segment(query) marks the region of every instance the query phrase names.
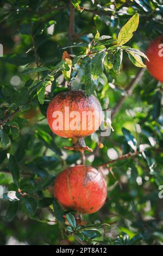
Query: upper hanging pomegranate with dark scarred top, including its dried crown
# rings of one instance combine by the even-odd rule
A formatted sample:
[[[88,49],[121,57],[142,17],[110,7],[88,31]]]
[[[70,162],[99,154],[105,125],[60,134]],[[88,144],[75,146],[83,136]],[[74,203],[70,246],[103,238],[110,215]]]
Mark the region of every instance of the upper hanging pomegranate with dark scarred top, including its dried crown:
[[[69,90],[59,93],[49,103],[47,121],[56,135],[72,138],[73,145],[68,149],[92,151],[86,147],[84,137],[98,129],[102,107],[95,96],[86,96],[83,90]]]

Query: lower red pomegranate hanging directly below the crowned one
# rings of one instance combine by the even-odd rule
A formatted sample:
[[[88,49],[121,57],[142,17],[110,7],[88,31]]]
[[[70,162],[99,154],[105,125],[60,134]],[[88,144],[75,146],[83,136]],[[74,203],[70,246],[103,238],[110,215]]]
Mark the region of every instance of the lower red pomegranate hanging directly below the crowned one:
[[[54,184],[54,196],[68,209],[92,214],[102,208],[106,200],[106,182],[91,166],[69,167],[61,172]]]

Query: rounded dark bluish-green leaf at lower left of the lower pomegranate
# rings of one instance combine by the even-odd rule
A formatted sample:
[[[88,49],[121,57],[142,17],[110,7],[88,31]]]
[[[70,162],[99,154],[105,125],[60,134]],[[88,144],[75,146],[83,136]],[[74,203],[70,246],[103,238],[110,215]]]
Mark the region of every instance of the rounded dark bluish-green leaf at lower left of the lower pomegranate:
[[[22,211],[27,215],[34,215],[37,210],[37,202],[33,197],[23,197],[21,199]]]

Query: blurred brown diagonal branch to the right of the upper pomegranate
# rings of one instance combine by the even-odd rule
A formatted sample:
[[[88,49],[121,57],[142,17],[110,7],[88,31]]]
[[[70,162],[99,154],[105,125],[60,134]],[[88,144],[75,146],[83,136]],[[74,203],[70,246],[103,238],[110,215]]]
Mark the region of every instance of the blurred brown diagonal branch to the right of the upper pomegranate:
[[[145,69],[140,69],[140,70],[137,72],[137,74],[136,74],[134,80],[132,80],[132,81],[130,82],[130,84],[128,85],[128,87],[126,88],[126,94],[121,97],[120,101],[117,103],[117,106],[116,106],[116,107],[114,108],[114,110],[112,111],[111,119],[114,118],[115,114],[116,114],[116,113],[118,112],[118,110],[121,108],[121,106],[122,106],[124,100],[126,100],[126,98],[131,95],[131,93],[133,92],[133,90],[134,90],[136,84],[141,80],[141,78],[142,78],[144,72],[145,72]]]

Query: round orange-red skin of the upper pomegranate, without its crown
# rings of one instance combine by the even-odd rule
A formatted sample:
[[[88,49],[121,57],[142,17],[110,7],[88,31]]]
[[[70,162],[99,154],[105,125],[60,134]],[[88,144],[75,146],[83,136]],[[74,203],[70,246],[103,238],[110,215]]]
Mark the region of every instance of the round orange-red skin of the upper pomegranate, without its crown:
[[[65,114],[65,107],[68,107],[68,112],[72,113],[74,111],[78,112],[79,117],[75,117],[74,128],[71,129],[70,125],[74,117],[68,117]],[[58,117],[53,117],[53,113],[59,111],[63,115],[63,127],[58,129],[55,120]],[[91,118],[86,117],[82,119],[83,111],[89,111],[90,113],[96,112],[95,116],[92,116],[92,126]],[[49,103],[47,109],[47,121],[51,130],[60,137],[65,138],[80,138],[91,135],[95,132],[99,125],[101,124],[100,114],[102,114],[102,107],[97,98],[93,95],[86,96],[83,90],[70,90],[69,92],[62,92],[55,96]],[[85,129],[82,129],[83,123]],[[68,127],[65,127],[65,124]],[[91,128],[91,129],[90,129]]]

